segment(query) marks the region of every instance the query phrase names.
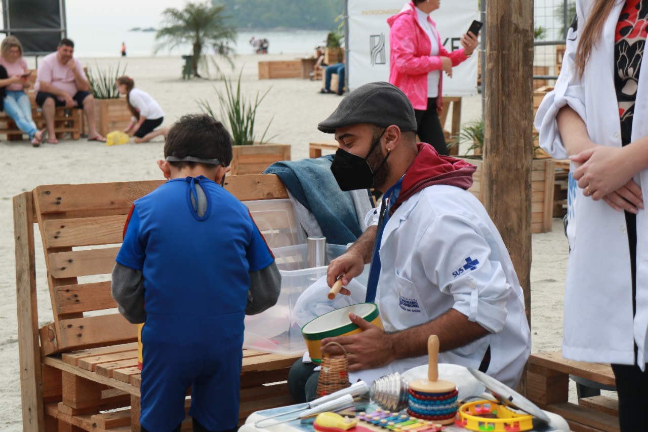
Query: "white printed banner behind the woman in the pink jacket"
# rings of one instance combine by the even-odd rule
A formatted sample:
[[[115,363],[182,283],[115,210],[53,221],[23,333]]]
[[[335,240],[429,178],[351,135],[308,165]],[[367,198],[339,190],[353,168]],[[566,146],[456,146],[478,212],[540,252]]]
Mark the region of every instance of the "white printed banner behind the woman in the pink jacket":
[[[350,90],[367,82],[389,80],[389,25],[387,19],[402,10],[403,0],[347,0],[349,40],[347,69]],[[478,0],[445,1],[430,18],[437,24],[441,43],[448,51],[461,48],[459,39],[473,19],[480,19]],[[478,49],[480,49],[478,47]],[[452,69],[452,78],[444,74],[443,94],[477,94],[477,58],[475,54]]]

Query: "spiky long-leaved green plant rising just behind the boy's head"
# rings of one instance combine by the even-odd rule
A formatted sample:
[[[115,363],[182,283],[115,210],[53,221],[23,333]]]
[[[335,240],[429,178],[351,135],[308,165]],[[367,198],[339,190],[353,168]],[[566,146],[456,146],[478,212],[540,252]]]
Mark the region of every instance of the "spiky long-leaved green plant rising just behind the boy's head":
[[[225,82],[225,93],[219,91],[214,87],[216,94],[218,95],[218,101],[220,102],[220,114],[222,119],[227,119],[229,122],[229,130],[232,134],[233,145],[252,145],[255,141],[255,132],[254,126],[257,119],[257,108],[259,108],[260,103],[263,101],[264,97],[270,91],[270,88],[266,90],[265,93],[259,96],[257,95],[252,102],[251,99],[244,97],[241,93],[241,75],[243,71],[238,74],[237,86],[234,88],[234,85],[231,80],[223,78]],[[209,114],[214,119],[218,119],[219,116],[214,114],[213,108],[206,99],[200,99],[198,101],[198,106],[205,113]],[[273,116],[274,118],[274,116]],[[226,123],[225,121],[223,123]],[[268,122],[268,126],[263,131],[259,143],[267,143],[264,141],[266,132],[272,123],[272,119]],[[274,138],[271,137],[268,140]]]

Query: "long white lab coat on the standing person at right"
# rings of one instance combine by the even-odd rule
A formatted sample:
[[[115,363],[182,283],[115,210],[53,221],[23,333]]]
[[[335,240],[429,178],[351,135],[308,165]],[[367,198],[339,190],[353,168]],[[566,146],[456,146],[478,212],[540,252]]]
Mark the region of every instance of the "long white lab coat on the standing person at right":
[[[570,29],[561,74],[535,118],[540,146],[554,158],[568,155],[555,117],[565,105],[577,112],[595,143],[621,147],[618,101],[614,89],[614,31],[621,8],[617,0],[605,23],[603,39],[592,50],[583,80],[574,71],[579,30],[583,29],[591,1],[577,0],[578,30]],[[643,56],[645,60],[646,56]],[[587,83],[587,84],[585,84]],[[648,134],[648,60],[642,62],[639,77],[632,141]],[[573,164],[570,171],[573,172]],[[634,176],[643,191],[648,190],[648,172]],[[568,187],[568,241],[570,257],[564,301],[562,355],[568,359],[601,363],[638,364],[646,357],[648,328],[648,230],[646,212],[637,215],[636,317],[632,318],[632,281],[627,228],[623,212],[603,200],[583,195],[570,173]],[[645,195],[645,193],[644,193]]]

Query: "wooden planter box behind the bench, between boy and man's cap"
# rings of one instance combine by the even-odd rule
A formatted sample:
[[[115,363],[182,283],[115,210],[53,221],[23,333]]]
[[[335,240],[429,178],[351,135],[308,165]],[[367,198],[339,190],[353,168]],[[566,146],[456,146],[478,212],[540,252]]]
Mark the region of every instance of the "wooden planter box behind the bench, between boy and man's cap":
[[[290,144],[235,145],[232,156],[229,174],[261,174],[275,162],[290,160]]]

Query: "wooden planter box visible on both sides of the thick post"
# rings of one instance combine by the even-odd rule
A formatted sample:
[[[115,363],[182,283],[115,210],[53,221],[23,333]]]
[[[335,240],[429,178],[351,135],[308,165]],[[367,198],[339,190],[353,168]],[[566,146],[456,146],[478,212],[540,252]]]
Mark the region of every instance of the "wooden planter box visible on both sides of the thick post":
[[[463,158],[477,171],[472,174],[472,186],[468,189],[472,195],[484,202],[485,187],[481,182],[483,176],[483,160]],[[531,232],[550,232],[553,223],[553,159],[534,159],[531,165]]]

